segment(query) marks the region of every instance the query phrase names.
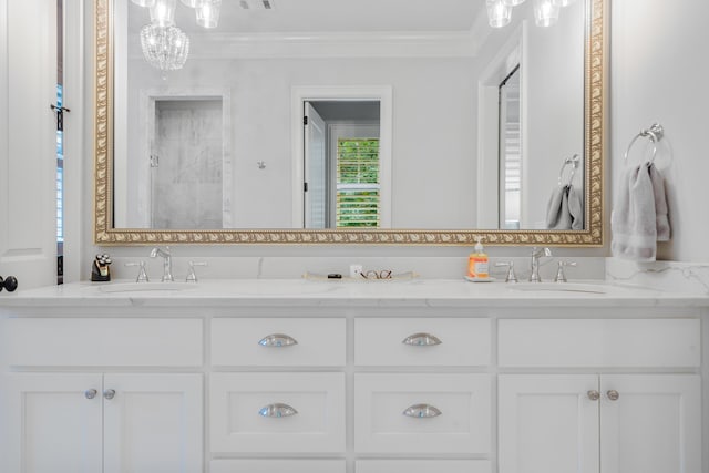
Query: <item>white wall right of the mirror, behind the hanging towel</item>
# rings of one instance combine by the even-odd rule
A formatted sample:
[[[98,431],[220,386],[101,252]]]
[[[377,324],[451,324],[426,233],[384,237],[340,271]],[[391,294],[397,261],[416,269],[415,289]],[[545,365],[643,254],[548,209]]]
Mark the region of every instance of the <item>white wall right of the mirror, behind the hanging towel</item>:
[[[623,154],[640,128],[665,126],[656,161],[664,172],[671,240],[658,259],[709,260],[709,2],[618,0],[612,10],[612,146],[614,189]],[[634,147],[637,163],[641,146]]]

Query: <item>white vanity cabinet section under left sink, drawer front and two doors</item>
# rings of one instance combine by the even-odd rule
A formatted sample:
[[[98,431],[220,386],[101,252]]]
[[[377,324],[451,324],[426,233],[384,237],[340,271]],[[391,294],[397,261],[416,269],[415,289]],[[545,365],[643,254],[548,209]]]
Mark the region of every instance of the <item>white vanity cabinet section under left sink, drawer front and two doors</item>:
[[[3,320],[2,471],[198,473],[202,320]],[[179,366],[181,371],[175,371]]]

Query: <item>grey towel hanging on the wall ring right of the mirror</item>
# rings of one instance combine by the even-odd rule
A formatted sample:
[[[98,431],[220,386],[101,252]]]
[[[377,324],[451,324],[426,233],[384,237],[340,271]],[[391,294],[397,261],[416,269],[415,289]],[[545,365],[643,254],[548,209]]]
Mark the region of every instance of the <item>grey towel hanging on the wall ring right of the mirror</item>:
[[[669,239],[665,181],[651,163],[623,176],[610,217],[613,255],[635,261],[655,261],[657,241]]]

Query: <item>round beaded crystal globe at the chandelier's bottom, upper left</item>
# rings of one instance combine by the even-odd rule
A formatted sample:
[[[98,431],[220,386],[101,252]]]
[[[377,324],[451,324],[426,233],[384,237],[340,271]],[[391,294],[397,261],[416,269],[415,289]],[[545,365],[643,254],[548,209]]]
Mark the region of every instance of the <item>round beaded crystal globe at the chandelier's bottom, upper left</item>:
[[[189,53],[189,38],[177,27],[147,24],[141,30],[143,56],[163,72],[182,69]]]

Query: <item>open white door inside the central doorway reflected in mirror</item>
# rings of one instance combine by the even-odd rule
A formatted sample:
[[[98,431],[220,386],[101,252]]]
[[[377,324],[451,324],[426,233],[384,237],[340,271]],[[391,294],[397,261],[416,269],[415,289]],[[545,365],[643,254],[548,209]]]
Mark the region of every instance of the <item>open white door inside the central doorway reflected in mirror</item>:
[[[305,228],[328,227],[328,165],[325,120],[305,103]]]

